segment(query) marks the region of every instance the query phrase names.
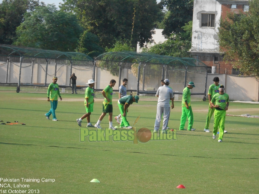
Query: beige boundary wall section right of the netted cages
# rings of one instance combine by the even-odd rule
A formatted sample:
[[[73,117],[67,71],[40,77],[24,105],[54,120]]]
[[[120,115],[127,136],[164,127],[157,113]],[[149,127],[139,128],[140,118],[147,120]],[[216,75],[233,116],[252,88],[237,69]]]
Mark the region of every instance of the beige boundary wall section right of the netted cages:
[[[256,77],[208,74],[207,93],[209,86],[214,83],[212,81],[214,77],[219,77],[219,84],[225,86],[225,92],[230,100],[259,101],[259,80]]]

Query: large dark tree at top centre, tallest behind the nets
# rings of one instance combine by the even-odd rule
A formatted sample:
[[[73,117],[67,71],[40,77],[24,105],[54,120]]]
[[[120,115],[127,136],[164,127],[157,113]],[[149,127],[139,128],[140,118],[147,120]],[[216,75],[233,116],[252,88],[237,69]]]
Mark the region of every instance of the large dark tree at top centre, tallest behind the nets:
[[[78,0],[70,1],[70,5],[68,1],[66,3],[67,10],[77,12],[87,31],[100,38],[102,47],[111,47],[120,39],[131,40],[131,36],[134,47],[137,42],[140,46],[151,42],[154,22],[161,12],[156,0]]]

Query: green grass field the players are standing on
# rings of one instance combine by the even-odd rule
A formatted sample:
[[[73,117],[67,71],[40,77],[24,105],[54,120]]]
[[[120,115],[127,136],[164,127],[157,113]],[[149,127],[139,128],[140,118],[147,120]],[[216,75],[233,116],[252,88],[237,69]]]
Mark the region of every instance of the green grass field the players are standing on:
[[[116,95],[117,97],[117,95]],[[62,94],[57,119],[44,116],[50,109],[46,94],[0,92],[0,120],[26,125],[0,125],[0,178],[16,178],[39,193],[258,193],[259,119],[226,117],[223,142],[203,131],[207,102],[193,102],[195,131],[177,130],[177,140],[126,142],[85,142],[79,140],[76,119],[85,114],[84,95]],[[129,107],[127,119],[137,129],[153,129],[156,98],[142,98]],[[181,102],[175,102],[169,127],[178,129]],[[91,122],[102,113],[102,99],[96,99]],[[113,116],[119,114],[113,99]],[[258,104],[230,103],[227,114],[259,114]],[[52,117],[51,117],[52,119]],[[1,122],[2,123],[2,122]],[[86,119],[82,128],[86,127]],[[113,126],[117,125],[113,119]],[[102,123],[108,127],[108,116]],[[162,127],[162,125],[161,125]],[[187,127],[187,123],[186,123]],[[213,128],[213,119],[210,129]],[[92,128],[93,129],[93,128]],[[176,131],[176,130],[175,130]],[[40,182],[21,182],[36,178]],[[41,179],[55,179],[42,182]],[[90,182],[97,178],[100,183]],[[178,185],[186,189],[177,189]],[[0,185],[3,193],[4,190]],[[35,192],[34,192],[35,193]]]

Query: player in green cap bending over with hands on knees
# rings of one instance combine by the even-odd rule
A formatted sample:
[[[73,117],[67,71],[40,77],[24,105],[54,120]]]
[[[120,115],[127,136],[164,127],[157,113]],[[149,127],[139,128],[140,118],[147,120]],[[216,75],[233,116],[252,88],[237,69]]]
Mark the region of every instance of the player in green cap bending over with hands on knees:
[[[138,96],[123,96],[118,100],[118,106],[122,115],[120,128],[132,129],[129,122],[127,121],[127,109],[133,102],[138,103],[138,99]]]

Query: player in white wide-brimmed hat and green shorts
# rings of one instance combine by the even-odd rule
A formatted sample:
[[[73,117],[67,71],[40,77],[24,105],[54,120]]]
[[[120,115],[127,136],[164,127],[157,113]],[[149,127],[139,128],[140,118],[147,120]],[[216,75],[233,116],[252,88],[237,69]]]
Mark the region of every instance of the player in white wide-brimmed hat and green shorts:
[[[86,127],[94,127],[90,123],[90,115],[93,112],[93,104],[94,104],[94,80],[88,80],[88,87],[85,90],[85,109],[86,109],[86,114],[84,114],[80,119],[77,119],[77,124],[81,127],[81,122],[84,118],[87,119],[87,126]]]

